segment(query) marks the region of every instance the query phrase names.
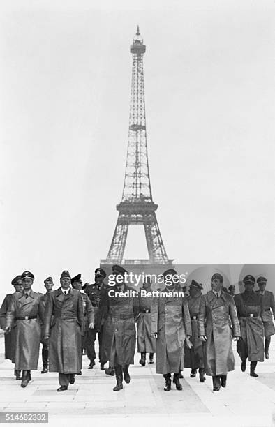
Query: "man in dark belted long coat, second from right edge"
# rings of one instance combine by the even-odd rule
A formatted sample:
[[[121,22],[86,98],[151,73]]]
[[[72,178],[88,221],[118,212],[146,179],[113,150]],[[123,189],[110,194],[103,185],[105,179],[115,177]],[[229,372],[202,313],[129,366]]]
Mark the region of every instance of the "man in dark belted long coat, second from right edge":
[[[241,358],[241,370],[246,370],[246,359],[250,361],[251,377],[258,377],[255,367],[258,361],[264,361],[264,312],[261,294],[253,291],[255,277],[248,274],[244,280],[244,292],[235,295],[235,304],[241,327],[241,338],[237,342],[237,352]]]

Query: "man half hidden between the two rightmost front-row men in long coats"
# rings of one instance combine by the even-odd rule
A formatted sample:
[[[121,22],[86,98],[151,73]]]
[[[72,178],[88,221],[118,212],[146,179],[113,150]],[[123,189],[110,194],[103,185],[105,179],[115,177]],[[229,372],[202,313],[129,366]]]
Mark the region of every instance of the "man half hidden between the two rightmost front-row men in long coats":
[[[203,364],[202,341],[198,337],[198,313],[200,300],[202,297],[202,285],[195,280],[191,281],[189,287],[189,297],[187,297],[188,308],[191,317],[193,347],[185,345],[184,368],[191,368],[190,377],[195,378],[197,369],[200,374],[200,382],[205,381],[205,370]]]

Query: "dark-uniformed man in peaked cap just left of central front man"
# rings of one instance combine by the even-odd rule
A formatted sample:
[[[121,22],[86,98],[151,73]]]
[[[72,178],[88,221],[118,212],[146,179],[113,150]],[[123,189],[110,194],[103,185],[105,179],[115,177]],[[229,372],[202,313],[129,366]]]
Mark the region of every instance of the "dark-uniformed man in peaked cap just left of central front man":
[[[94,344],[96,341],[96,334],[98,335],[98,344],[99,344],[98,359],[99,359],[99,363],[101,364],[101,370],[104,370],[104,364],[107,361],[105,357],[105,353],[103,352],[103,345],[102,345],[104,317],[103,317],[103,312],[100,308],[101,299],[103,297],[105,290],[107,289],[107,285],[105,285],[105,283],[103,282],[105,277],[106,277],[105,271],[103,269],[98,268],[94,272],[95,283],[93,285],[87,285],[85,287],[85,292],[89,297],[89,300],[91,301],[91,305],[94,308],[94,323],[95,323],[94,329],[89,329],[88,337],[86,341],[87,356],[90,361],[89,369],[93,369],[95,365],[96,352],[94,350]]]

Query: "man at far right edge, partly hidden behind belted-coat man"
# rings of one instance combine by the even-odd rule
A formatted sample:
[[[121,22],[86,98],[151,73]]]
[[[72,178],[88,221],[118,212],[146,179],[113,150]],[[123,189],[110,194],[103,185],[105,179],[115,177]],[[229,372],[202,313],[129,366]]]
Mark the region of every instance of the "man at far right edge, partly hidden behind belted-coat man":
[[[267,279],[265,277],[258,277],[257,279],[259,290],[256,292],[262,295],[264,311],[262,313],[262,322],[265,329],[265,359],[269,359],[269,345],[272,335],[275,334],[274,323],[272,321],[272,314],[275,317],[275,300],[274,294],[271,291],[265,290]]]

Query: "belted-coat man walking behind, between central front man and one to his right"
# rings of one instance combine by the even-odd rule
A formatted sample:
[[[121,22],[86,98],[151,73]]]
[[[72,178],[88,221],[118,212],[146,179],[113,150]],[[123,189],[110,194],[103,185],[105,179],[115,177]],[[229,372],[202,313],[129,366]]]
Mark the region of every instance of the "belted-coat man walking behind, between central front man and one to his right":
[[[142,292],[145,295],[142,296]],[[140,287],[138,299],[137,316],[137,352],[140,353],[140,364],[145,366],[146,353],[149,353],[149,363],[154,363],[154,353],[156,353],[156,338],[151,333],[151,304],[153,298],[148,296],[151,292],[151,279],[149,277],[144,280],[143,286]]]

